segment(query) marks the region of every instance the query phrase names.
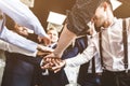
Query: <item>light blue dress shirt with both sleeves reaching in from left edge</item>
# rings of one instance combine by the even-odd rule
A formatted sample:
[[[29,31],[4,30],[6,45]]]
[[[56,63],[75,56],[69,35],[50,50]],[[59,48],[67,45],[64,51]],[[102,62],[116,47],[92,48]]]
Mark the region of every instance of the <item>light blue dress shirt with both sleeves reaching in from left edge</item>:
[[[6,27],[4,27],[5,17],[3,13],[21,26],[32,29],[36,34],[44,37],[47,33],[38,18],[20,0],[0,0],[0,39],[35,53],[37,51],[37,43],[11,32]]]

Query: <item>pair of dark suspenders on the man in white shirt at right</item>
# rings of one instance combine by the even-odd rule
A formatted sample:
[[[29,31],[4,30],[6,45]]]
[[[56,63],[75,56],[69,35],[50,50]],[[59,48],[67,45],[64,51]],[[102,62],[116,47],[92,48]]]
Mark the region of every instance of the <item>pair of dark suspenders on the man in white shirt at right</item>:
[[[122,41],[123,41],[123,54],[125,54],[125,69],[126,72],[128,72],[128,37],[127,37],[127,28],[126,28],[126,20],[122,20]],[[100,56],[101,56],[101,64],[102,68],[104,69],[103,64],[103,54],[102,54],[102,32],[99,34],[99,44],[100,44]]]

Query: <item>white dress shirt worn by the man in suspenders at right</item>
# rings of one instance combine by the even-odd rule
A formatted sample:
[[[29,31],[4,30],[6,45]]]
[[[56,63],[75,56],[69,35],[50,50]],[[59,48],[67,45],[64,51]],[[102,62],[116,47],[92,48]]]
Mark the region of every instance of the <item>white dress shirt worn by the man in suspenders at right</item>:
[[[128,23],[129,20],[129,23]],[[130,57],[130,18],[127,18],[128,31],[128,57]],[[74,58],[66,59],[67,66],[79,66],[89,61],[99,51],[99,33],[91,40],[84,52]],[[103,62],[106,70],[123,71],[123,42],[122,42],[122,19],[115,18],[115,22],[107,29],[102,31]],[[128,58],[130,69],[130,58]]]

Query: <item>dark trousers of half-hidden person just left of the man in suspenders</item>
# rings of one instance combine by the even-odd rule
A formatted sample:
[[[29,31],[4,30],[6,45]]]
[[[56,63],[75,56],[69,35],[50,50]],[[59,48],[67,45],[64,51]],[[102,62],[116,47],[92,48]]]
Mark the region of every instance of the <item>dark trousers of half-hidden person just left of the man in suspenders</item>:
[[[101,74],[88,73],[81,86],[101,86]]]

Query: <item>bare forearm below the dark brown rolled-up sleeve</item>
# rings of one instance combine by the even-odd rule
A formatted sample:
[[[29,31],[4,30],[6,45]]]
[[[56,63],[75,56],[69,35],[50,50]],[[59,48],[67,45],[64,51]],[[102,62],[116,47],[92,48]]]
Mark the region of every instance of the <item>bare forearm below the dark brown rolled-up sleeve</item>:
[[[72,41],[76,38],[77,35],[73,32],[70,32],[67,27],[65,26],[63,29],[63,32],[60,37],[58,43],[56,48],[54,49],[54,54],[58,57],[62,56],[63,52],[65,48],[72,43]]]

